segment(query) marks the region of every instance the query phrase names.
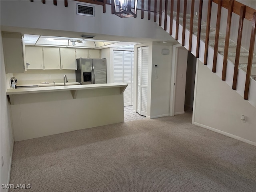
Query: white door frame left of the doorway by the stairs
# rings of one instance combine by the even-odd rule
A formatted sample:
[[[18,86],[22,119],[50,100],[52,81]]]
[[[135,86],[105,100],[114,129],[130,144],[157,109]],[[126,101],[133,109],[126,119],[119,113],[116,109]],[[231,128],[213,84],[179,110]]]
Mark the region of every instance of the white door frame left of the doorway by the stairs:
[[[174,116],[175,106],[175,83],[177,74],[177,60],[178,60],[178,48],[182,47],[181,44],[172,46],[172,69],[171,69],[171,90],[170,90],[170,116]]]

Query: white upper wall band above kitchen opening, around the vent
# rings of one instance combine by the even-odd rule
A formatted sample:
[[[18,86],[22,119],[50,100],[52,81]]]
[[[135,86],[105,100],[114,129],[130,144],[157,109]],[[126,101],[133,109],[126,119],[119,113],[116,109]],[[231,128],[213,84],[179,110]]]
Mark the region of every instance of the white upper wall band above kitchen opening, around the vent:
[[[106,5],[106,13],[102,6],[94,5],[95,17],[76,15],[76,1],[58,1],[58,6],[52,2],[42,4],[41,1],[1,1],[1,25],[24,28],[48,29],[79,32],[79,34],[105,34],[111,36],[126,36],[136,38],[166,38],[169,34],[157,26],[154,20],[146,21],[139,18],[119,18],[111,14],[111,6]],[[83,4],[82,2],[79,2]],[[140,11],[138,11],[140,15]],[[152,13],[153,16],[153,13]],[[124,22],[125,21],[125,22]],[[140,27],[134,27],[140,26]],[[112,39],[114,40],[114,38]]]

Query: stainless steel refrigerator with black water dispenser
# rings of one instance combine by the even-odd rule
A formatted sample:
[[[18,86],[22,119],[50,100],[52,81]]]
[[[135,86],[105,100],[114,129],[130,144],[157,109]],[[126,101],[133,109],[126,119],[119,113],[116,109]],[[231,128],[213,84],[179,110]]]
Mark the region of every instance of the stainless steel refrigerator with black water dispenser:
[[[106,59],[76,59],[76,82],[81,84],[107,83]]]

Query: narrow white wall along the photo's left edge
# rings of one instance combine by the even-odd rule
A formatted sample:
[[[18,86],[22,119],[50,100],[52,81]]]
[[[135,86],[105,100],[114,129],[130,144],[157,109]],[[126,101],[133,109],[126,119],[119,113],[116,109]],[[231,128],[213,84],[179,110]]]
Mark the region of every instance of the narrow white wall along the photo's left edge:
[[[12,77],[12,74],[5,74],[5,66],[4,66],[4,52],[2,48],[2,34],[1,34],[1,63],[0,63],[0,132],[1,132],[1,157],[4,159],[4,166],[2,167],[1,160],[1,185],[8,184],[9,182],[9,172],[10,172],[10,164],[11,164],[11,156],[12,156],[12,148],[13,148],[13,133],[12,133],[12,125],[10,119],[10,104],[8,103],[8,99],[6,96],[6,90],[9,88],[10,84],[8,83],[8,79]],[[1,188],[1,191],[6,191]]]

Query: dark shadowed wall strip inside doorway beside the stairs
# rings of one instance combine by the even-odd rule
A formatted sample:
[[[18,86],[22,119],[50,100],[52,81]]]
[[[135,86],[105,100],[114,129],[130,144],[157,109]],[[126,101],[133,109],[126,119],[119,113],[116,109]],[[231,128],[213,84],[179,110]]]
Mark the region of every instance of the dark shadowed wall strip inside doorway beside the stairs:
[[[195,75],[196,75],[196,57],[191,52],[188,52],[185,106],[190,108],[193,107]]]

